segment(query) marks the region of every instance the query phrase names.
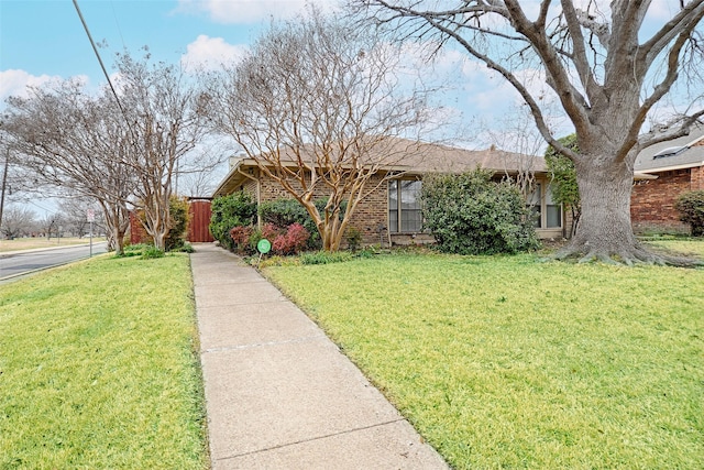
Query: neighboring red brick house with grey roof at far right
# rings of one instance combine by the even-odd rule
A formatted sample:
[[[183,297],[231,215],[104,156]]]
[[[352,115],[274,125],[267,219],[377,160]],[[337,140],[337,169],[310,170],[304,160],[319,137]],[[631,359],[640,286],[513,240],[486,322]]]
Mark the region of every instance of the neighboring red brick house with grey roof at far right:
[[[674,208],[682,193],[704,189],[704,127],[644,150],[634,165],[630,217],[636,232],[689,232]]]

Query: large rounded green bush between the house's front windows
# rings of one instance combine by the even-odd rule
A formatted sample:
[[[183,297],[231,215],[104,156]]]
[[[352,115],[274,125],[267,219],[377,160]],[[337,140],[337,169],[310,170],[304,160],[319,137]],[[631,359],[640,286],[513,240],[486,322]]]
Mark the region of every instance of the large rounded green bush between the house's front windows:
[[[520,192],[492,173],[430,175],[422,184],[426,228],[440,250],[459,254],[515,253],[538,247]]]

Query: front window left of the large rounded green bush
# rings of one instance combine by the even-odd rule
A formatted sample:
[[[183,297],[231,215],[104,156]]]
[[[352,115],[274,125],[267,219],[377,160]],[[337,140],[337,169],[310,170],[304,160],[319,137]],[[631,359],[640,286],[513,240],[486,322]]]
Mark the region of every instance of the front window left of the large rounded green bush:
[[[388,182],[388,231],[419,232],[422,230],[418,181],[394,179]]]

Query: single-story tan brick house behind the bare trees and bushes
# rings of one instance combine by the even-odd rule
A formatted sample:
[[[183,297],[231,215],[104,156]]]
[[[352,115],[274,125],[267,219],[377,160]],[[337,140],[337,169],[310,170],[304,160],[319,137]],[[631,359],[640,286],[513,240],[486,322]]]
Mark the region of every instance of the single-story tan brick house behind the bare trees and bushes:
[[[362,232],[367,244],[411,244],[433,241],[422,230],[420,188],[422,176],[429,173],[462,173],[479,167],[491,170],[496,179],[530,171],[536,190],[529,203],[536,212],[536,229],[541,238],[562,238],[565,220],[562,208],[552,203],[549,176],[541,156],[529,156],[496,149],[471,151],[440,144],[410,143],[414,147],[395,164],[384,166],[367,183],[373,189],[352,216],[351,226]],[[294,165],[290,162],[290,165]],[[239,190],[249,192],[257,204],[292,196],[273,178],[262,172],[251,159],[233,159],[230,172],[220,183],[213,197]],[[393,175],[393,176],[392,176]],[[324,192],[316,197],[326,197]]]

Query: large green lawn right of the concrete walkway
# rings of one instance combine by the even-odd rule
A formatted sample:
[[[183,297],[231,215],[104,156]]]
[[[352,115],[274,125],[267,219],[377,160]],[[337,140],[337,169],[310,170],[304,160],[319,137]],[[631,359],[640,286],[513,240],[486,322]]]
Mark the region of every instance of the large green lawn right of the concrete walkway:
[[[703,468],[704,270],[536,260],[265,273],[453,468]]]

